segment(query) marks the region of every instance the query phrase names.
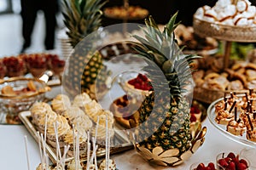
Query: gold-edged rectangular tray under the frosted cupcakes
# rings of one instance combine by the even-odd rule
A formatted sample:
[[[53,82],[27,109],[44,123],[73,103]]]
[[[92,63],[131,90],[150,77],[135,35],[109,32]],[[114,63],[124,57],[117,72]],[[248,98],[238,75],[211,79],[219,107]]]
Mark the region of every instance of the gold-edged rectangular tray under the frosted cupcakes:
[[[21,122],[25,125],[26,129],[29,133],[31,133],[32,137],[38,141],[37,137],[37,129],[32,123],[32,116],[30,111],[22,111],[19,114]],[[114,147],[110,147],[110,154],[119,153],[125,150],[131,150],[133,148],[133,145],[129,141],[129,139],[126,138],[125,133],[123,131],[120,131],[117,127],[114,128],[114,136],[113,136],[113,144]],[[49,144],[46,144],[45,147],[47,154],[49,155],[50,161],[53,163],[56,163],[57,157],[56,157],[56,149],[50,146]],[[103,157],[106,156],[106,150],[105,146],[100,146],[98,150],[96,151],[97,157]],[[72,156],[67,156],[66,161],[72,161]],[[81,161],[86,161],[86,156],[81,157]]]

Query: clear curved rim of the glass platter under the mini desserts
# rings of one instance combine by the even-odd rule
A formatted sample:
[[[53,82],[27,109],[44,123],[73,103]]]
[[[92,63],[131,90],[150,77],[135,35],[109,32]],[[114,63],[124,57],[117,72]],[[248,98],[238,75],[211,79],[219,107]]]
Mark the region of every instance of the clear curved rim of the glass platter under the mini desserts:
[[[246,133],[243,133],[242,136],[236,136],[232,133],[229,133],[228,131],[226,131],[226,125],[221,125],[218,124],[215,121],[215,105],[223,100],[224,98],[221,99],[217,99],[214,102],[212,102],[211,105],[209,105],[208,109],[207,109],[207,117],[209,119],[209,121],[212,123],[212,125],[220,132],[222,133],[225,137],[232,139],[235,142],[241,143],[241,144],[245,144],[251,147],[256,147],[256,142],[250,141],[246,138]]]

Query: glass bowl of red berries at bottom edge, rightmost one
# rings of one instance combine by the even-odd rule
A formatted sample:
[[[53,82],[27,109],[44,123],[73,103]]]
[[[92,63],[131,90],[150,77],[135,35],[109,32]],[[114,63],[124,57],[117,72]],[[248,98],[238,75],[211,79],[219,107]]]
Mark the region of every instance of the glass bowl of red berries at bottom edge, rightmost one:
[[[248,161],[246,157],[236,154],[234,152],[223,152],[219,153],[218,156],[216,156],[216,165],[219,170],[232,169],[233,167],[241,166],[238,164],[247,164],[247,168],[241,169],[251,169],[250,161]]]

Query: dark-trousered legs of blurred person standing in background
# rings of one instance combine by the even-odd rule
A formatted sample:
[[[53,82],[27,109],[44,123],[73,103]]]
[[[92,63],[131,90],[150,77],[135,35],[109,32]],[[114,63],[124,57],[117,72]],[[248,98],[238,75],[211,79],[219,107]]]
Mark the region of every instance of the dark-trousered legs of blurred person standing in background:
[[[21,2],[21,20],[22,37],[24,39],[20,53],[24,53],[26,48],[31,46],[32,31],[35,25],[39,10],[44,12],[45,20],[45,39],[44,46],[46,50],[55,48],[55,27],[56,14],[59,10],[58,0],[20,0]]]

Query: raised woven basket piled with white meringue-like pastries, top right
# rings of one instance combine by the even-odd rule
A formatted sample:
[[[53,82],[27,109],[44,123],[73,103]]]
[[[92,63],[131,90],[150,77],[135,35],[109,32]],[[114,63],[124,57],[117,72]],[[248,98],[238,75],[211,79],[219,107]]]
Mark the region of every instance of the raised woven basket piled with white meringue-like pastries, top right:
[[[255,42],[256,8],[248,0],[217,1],[213,7],[198,8],[194,14],[195,33],[234,42]]]

